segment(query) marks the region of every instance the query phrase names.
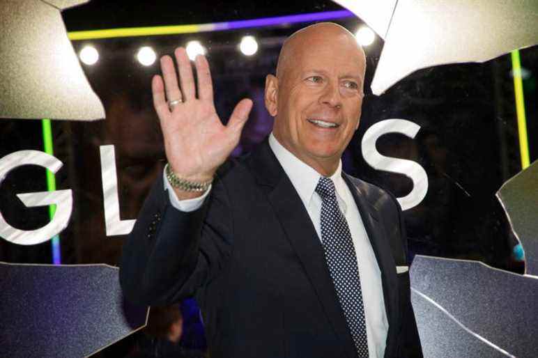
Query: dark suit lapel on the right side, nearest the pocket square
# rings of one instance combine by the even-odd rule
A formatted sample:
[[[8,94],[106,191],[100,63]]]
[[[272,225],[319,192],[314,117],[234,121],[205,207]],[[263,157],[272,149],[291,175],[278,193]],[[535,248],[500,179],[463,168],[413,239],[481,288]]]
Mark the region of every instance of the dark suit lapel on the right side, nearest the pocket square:
[[[392,357],[392,350],[395,348],[395,338],[398,334],[399,309],[398,309],[398,282],[396,276],[396,265],[392,257],[392,249],[385,237],[382,221],[379,219],[377,208],[366,199],[366,187],[361,187],[358,180],[353,180],[343,174],[353,199],[364,223],[364,228],[368,234],[371,246],[376,254],[383,285],[383,297],[385,299],[385,310],[387,311],[387,320],[389,330],[387,333],[387,345],[385,348],[385,357]]]

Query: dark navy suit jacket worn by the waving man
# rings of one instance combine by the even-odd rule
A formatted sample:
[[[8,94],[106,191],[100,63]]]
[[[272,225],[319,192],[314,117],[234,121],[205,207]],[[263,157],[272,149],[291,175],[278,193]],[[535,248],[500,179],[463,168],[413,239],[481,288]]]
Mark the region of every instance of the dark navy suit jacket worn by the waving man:
[[[374,248],[389,330],[385,357],[422,357],[394,196],[344,175]],[[266,140],[218,171],[202,207],[180,212],[159,178],[123,245],[132,302],[197,299],[212,358],[355,358],[305,206]],[[367,289],[367,288],[363,288]]]

